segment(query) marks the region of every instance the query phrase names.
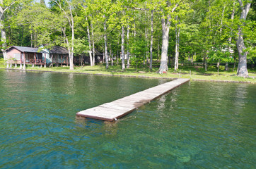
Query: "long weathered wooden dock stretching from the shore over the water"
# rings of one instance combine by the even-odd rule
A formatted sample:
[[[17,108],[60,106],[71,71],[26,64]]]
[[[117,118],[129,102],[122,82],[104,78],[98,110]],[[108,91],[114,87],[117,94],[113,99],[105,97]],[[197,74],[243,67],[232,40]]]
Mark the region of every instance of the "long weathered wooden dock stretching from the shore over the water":
[[[174,89],[175,87],[178,87],[188,81],[189,79],[177,79],[166,82],[136,94],[123,97],[122,99],[118,99],[107,104],[102,104],[94,108],[89,108],[85,111],[80,111],[76,113],[76,115],[98,120],[117,120],[118,118],[122,118],[122,116],[131,113],[136,108],[149,103],[149,101],[156,99],[157,97],[169,92],[171,89]]]

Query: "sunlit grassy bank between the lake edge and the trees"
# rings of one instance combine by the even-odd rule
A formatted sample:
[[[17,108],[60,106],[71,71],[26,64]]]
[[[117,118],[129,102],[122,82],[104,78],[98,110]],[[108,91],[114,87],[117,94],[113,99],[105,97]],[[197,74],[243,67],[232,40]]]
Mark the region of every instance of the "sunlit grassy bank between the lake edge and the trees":
[[[0,65],[0,68],[6,68],[6,65]],[[14,66],[13,66],[14,69]],[[18,68],[16,68],[18,70]],[[174,71],[173,68],[169,68],[168,73],[159,75],[158,65],[153,67],[153,70],[149,70],[147,67],[137,68],[133,67],[125,70],[121,70],[120,65],[110,66],[108,69],[105,65],[91,66],[76,66],[74,70],[69,70],[69,67],[53,67],[53,68],[39,68],[35,66],[27,65],[26,70],[43,70],[52,72],[65,72],[65,73],[90,73],[90,74],[101,74],[101,75],[127,75],[136,77],[167,77],[167,78],[190,78],[192,80],[207,80],[207,81],[223,81],[223,82],[250,82],[256,84],[256,73],[254,69],[249,69],[248,78],[237,77],[235,71],[224,70],[224,66],[221,66],[219,74],[217,73],[216,66],[210,66],[207,71],[201,65],[185,65],[180,66],[178,71]]]

